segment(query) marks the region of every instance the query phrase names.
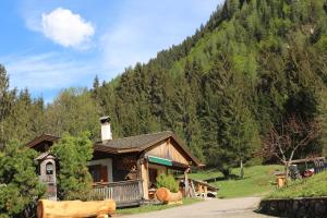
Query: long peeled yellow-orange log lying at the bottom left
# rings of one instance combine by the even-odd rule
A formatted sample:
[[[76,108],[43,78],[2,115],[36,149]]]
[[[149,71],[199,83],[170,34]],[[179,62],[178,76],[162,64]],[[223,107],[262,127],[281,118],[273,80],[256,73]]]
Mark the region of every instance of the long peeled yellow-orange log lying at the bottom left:
[[[113,199],[97,202],[40,199],[37,203],[38,218],[105,218],[114,210],[116,202]]]

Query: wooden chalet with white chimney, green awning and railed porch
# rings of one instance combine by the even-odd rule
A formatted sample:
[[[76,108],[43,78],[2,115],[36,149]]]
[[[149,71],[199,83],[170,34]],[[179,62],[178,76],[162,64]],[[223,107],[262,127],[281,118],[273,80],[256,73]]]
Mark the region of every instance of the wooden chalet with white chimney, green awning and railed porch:
[[[118,206],[137,205],[149,199],[159,173],[178,171],[189,181],[190,167],[201,166],[170,131],[112,138],[110,119],[101,118],[101,123],[102,138],[94,144],[93,159],[88,162],[93,192],[100,198],[113,198]],[[43,134],[27,146],[47,153],[59,138]],[[187,192],[189,184],[185,190]]]

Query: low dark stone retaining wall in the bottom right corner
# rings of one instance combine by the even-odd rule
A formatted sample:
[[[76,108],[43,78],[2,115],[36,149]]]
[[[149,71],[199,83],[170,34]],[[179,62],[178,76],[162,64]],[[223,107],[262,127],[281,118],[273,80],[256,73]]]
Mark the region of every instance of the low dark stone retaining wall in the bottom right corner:
[[[327,196],[292,199],[263,199],[259,204],[259,211],[281,217],[326,218]]]

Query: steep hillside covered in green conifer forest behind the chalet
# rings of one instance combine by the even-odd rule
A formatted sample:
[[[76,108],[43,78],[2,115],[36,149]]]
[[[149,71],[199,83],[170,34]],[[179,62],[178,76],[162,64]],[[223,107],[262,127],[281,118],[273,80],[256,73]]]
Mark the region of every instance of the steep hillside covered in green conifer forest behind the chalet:
[[[214,11],[214,9],[213,9]],[[256,152],[290,116],[316,120],[320,136],[298,157],[327,146],[327,2],[227,0],[182,44],[90,90],[52,104],[10,90],[0,71],[0,143],[47,132],[89,130],[109,114],[113,137],[172,130],[207,165],[262,161]]]

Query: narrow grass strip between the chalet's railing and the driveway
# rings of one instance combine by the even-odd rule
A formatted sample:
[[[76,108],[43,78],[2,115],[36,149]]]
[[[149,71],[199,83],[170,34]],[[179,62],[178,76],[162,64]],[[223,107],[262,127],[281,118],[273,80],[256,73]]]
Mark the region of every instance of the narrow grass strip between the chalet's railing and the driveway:
[[[190,205],[197,202],[202,202],[202,199],[198,198],[183,198],[182,205]],[[157,211],[162,209],[168,209],[171,207],[178,207],[182,205],[144,205],[140,207],[131,207],[131,208],[124,208],[124,209],[118,209],[117,214],[119,215],[132,215],[132,214],[141,214],[141,213],[149,213],[149,211]]]

